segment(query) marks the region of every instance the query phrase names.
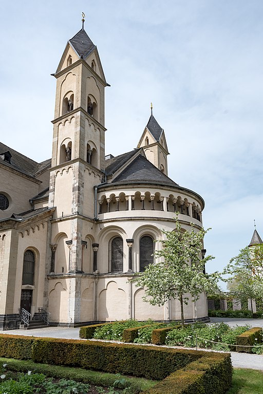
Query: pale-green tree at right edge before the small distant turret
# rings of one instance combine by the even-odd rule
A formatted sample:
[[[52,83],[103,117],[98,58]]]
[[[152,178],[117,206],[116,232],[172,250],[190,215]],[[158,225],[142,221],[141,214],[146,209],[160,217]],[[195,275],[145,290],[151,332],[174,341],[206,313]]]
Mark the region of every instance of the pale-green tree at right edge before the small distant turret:
[[[228,282],[232,296],[240,299],[242,303],[247,303],[250,299],[253,313],[252,300],[263,298],[263,245],[241,249],[240,253],[230,260],[223,274],[231,275],[223,280]]]

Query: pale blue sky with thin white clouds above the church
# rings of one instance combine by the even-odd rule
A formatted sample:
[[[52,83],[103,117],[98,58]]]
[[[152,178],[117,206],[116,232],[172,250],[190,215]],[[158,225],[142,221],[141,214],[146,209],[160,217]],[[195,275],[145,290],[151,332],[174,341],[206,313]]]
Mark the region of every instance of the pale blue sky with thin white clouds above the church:
[[[50,74],[82,11],[110,84],[105,154],[137,147],[152,102],[168,176],[205,200],[207,270],[222,270],[254,219],[263,238],[263,2],[1,2],[0,139],[37,162],[51,157]]]

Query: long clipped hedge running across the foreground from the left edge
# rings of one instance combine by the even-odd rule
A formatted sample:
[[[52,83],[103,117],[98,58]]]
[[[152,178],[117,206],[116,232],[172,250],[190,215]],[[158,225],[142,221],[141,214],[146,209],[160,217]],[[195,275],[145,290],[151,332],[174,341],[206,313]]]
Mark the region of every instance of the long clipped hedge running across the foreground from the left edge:
[[[97,341],[32,338],[5,334],[0,335],[0,357],[32,360],[42,364],[77,366],[154,380],[164,379],[169,374],[178,369],[186,368],[186,366],[191,369],[192,367],[189,364],[198,361],[198,359],[200,361],[203,357],[208,360],[215,360],[215,357],[217,357],[220,363],[227,363],[227,369],[224,370],[224,373],[221,373],[221,367],[219,368],[213,362],[213,369],[215,373],[220,374],[222,382],[226,379],[228,382],[232,371],[230,359],[228,361],[229,354],[226,353],[215,354],[186,349],[156,348]],[[187,368],[185,370],[188,370]],[[213,392],[216,393],[216,391]]]

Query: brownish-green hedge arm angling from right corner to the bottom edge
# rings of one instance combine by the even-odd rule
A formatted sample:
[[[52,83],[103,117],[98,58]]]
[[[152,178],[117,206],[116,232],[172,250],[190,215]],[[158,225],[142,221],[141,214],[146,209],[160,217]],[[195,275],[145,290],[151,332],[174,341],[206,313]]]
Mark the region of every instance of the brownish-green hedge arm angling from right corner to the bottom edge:
[[[224,394],[231,387],[230,354],[206,354],[158,382],[144,394]]]

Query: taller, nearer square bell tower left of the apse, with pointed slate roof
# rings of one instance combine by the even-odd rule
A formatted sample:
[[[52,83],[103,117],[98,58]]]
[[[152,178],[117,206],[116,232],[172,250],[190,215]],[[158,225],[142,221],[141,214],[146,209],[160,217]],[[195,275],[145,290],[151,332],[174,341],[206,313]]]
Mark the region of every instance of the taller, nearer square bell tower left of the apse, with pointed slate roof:
[[[67,42],[58,69],[52,75],[57,79],[57,90],[49,207],[57,207],[54,221],[63,221],[63,232],[72,241],[64,272],[79,272],[83,221],[93,223],[93,187],[103,178],[107,86],[97,47],[84,30],[84,18],[82,29]],[[53,243],[57,243],[58,227],[53,224]]]

